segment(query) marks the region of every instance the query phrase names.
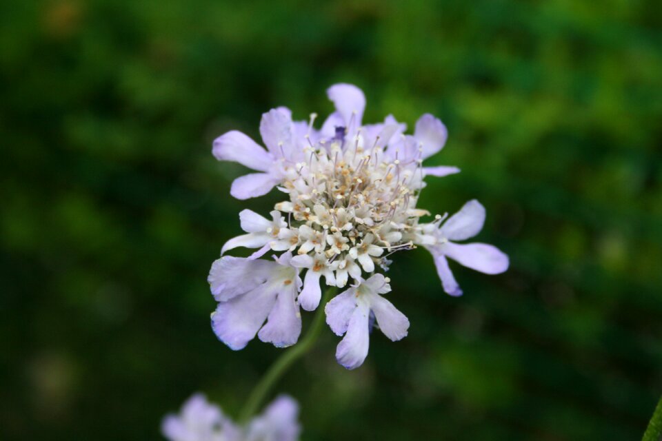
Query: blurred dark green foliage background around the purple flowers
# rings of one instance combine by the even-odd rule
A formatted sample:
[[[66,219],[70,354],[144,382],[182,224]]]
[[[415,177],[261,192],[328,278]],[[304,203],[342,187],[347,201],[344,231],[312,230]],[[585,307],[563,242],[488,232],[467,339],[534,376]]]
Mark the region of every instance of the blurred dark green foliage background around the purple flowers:
[[[277,388],[303,440],[638,440],[662,392],[662,8],[656,1],[0,3],[0,439],[159,440],[204,391],[236,415],[279,354],[212,334],[206,276],[262,112],[448,126],[421,207],[488,208],[512,267],[401,253],[357,371],[326,330]],[[310,314],[304,316],[304,324]]]

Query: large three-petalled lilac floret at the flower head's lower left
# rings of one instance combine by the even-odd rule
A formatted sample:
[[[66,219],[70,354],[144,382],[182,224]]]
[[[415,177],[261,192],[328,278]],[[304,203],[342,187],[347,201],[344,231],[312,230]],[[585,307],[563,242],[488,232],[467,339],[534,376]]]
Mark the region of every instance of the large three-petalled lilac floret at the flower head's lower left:
[[[276,347],[299,340],[301,314],[295,300],[301,278],[290,260],[288,252],[274,262],[232,256],[214,262],[208,282],[219,305],[212,329],[230,349],[243,349],[255,334]]]

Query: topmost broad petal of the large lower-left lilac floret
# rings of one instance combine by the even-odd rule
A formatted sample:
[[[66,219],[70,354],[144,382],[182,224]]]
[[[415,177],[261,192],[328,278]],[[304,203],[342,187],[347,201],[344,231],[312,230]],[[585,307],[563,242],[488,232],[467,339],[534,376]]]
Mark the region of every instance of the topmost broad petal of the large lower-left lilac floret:
[[[214,260],[207,281],[217,301],[230,300],[265,283],[274,267],[273,262],[223,256]],[[241,280],[241,283],[237,283]]]

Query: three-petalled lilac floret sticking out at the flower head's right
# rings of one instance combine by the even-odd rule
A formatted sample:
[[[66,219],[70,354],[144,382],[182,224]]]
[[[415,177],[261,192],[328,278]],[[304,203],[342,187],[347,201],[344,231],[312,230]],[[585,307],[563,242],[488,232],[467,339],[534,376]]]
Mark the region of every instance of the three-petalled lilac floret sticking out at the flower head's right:
[[[441,227],[437,223],[421,225],[423,234],[417,242],[423,245],[434,258],[443,289],[451,296],[461,296],[462,290],[448,267],[450,257],[465,267],[485,274],[499,274],[508,269],[509,260],[498,248],[485,243],[454,243],[476,236],[485,223],[485,207],[475,199],[466,203],[459,212],[450,216]]]

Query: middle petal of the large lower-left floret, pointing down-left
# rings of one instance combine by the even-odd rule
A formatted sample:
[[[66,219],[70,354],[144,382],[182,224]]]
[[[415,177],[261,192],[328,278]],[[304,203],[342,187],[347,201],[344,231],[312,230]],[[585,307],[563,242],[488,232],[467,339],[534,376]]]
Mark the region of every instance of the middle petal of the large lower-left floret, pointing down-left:
[[[243,296],[219,303],[216,312],[212,314],[214,333],[230,349],[243,349],[267,319],[276,302],[276,295],[274,289],[260,285]]]

